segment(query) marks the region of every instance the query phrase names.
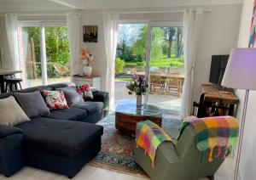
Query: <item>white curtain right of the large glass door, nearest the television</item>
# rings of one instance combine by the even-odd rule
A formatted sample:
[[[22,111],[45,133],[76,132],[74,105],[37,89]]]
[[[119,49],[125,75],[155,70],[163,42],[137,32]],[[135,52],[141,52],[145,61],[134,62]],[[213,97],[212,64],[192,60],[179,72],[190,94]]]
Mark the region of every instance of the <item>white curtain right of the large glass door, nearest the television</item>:
[[[191,114],[195,60],[204,20],[202,9],[185,9],[183,16],[185,81],[181,116]]]

